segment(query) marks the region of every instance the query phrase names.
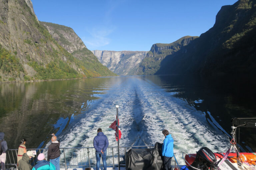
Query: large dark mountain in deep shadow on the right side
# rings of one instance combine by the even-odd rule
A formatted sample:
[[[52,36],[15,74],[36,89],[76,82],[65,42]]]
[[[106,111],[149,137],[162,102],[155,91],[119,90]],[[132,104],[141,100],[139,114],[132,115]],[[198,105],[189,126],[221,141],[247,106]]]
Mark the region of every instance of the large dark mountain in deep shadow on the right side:
[[[179,51],[167,55],[156,74],[256,73],[256,1],[223,6],[214,26]]]

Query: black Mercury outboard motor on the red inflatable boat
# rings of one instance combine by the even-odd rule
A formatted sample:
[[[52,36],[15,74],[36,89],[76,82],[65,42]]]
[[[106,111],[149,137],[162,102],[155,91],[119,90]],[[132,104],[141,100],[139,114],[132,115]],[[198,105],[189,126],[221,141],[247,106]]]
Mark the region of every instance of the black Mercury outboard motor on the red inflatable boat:
[[[216,163],[217,159],[214,153],[207,147],[202,147],[196,153],[196,159],[191,164],[191,166],[202,169],[202,170],[212,170],[216,168],[214,163]]]

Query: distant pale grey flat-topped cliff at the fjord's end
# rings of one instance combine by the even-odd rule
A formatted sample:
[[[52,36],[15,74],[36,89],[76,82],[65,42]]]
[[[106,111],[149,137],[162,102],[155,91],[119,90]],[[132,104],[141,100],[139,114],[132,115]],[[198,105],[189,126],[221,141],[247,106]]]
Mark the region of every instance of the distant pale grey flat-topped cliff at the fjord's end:
[[[98,60],[118,75],[136,75],[147,51],[92,51]]]

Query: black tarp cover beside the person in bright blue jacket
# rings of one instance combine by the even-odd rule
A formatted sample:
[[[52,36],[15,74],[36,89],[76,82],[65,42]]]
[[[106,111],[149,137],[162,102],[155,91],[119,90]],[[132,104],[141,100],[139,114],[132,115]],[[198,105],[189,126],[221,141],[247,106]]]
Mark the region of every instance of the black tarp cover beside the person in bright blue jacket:
[[[163,143],[156,142],[154,148],[130,149],[126,155],[126,170],[161,170]]]

